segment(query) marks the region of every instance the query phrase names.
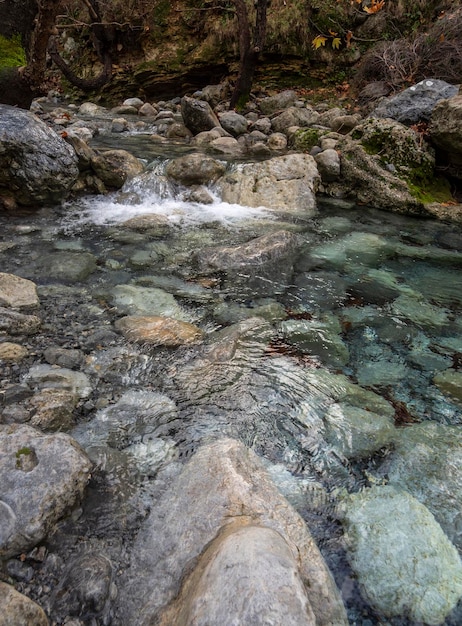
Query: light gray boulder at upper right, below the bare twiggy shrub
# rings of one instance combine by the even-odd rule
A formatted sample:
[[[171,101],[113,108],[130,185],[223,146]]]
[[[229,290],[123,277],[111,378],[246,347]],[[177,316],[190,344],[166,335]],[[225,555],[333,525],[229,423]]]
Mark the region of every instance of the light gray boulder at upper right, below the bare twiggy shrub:
[[[427,78],[395,96],[383,99],[370,116],[389,117],[408,126],[429,122],[437,103],[452,98],[458,89],[444,80]]]

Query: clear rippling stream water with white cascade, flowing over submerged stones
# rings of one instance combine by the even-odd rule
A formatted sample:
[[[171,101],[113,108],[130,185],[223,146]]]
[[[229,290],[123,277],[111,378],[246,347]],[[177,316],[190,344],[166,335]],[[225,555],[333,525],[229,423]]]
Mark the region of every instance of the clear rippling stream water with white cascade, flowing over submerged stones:
[[[24,338],[28,357],[0,364],[2,384],[28,380],[30,368],[45,363],[45,351],[54,347],[83,356],[73,367],[93,388],[69,432],[97,469],[81,509],[48,539],[54,561],[20,580],[19,588],[56,623],[75,614],[69,598],[66,605],[53,590],[68,571],[65,563],[82,546],[103,548],[123,570],[131,537],[168,488],[169,471],[176,471],[169,467],[181,467],[204,442],[230,436],[262,457],[306,520],[350,623],[412,624],[380,617],[362,598],[335,500],[339,491],[387,481],[389,473],[411,489],[405,471],[413,473],[412,464],[403,461],[398,471],[395,461],[397,442],[414,425],[437,425],[430,445],[441,454],[445,428],[459,434],[462,393],[451,381],[462,367],[461,228],[332,201],[320,201],[317,216],[304,219],[227,205],[213,189],[211,204],[189,202],[164,177],[165,161],[154,159],[147,173],[109,196],[0,216],[1,271],[37,284],[43,321],[36,335]],[[165,216],[168,231],[153,236],[123,224],[149,213]],[[295,233],[299,246],[274,280],[255,268],[229,275],[198,269],[201,250],[279,230]],[[130,297],[124,298],[127,286]],[[172,317],[179,313],[197,325],[204,341],[179,348],[127,343],[113,323],[145,314],[150,289],[156,297],[159,290],[173,296]],[[238,324],[233,353],[226,353],[226,344],[219,359],[207,360]],[[336,417],[332,406],[348,395],[358,409],[371,410],[360,406],[367,403],[361,390],[392,407],[392,435],[389,429],[364,434]],[[435,465],[441,463],[435,457]],[[448,474],[456,470],[446,463]],[[420,495],[425,481],[433,481],[428,501],[447,490],[425,472],[419,480]],[[451,533],[445,531],[460,548],[459,518]],[[110,610],[89,608],[80,619],[116,623]],[[459,608],[445,624],[461,620]]]

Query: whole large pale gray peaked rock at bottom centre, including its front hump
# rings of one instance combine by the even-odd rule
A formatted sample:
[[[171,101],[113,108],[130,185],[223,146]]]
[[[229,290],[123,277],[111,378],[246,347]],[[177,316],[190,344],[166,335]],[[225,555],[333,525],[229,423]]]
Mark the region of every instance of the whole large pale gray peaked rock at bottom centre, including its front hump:
[[[305,523],[233,440],[202,447],[171,484],[138,534],[132,568],[118,611],[133,626],[182,616],[263,624],[272,609],[287,624],[348,623]]]

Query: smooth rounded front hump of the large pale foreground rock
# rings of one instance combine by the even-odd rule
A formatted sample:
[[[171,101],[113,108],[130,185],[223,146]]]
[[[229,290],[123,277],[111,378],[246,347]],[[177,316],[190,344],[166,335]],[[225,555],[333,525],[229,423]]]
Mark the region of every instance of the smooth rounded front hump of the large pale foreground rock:
[[[315,626],[316,616],[287,541],[271,528],[227,528],[207,548],[162,623]],[[232,607],[232,614],[230,609]]]

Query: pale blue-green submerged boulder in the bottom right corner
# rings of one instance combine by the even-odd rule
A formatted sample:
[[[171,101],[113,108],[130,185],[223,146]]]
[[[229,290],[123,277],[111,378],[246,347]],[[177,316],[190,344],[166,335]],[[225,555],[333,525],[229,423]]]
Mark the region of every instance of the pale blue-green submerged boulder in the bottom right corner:
[[[372,606],[386,617],[441,624],[462,597],[462,562],[430,511],[386,485],[342,506],[350,562]]]

